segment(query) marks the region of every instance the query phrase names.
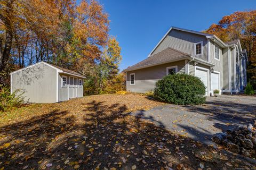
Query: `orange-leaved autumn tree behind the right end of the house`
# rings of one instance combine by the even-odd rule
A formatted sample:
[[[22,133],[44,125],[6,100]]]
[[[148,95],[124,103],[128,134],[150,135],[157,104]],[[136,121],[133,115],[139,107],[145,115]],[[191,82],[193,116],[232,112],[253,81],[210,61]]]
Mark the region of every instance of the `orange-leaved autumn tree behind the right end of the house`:
[[[218,24],[212,24],[205,32],[218,36],[222,41],[240,39],[242,48],[247,50],[249,63],[247,76],[256,86],[256,10],[235,12],[223,16]]]

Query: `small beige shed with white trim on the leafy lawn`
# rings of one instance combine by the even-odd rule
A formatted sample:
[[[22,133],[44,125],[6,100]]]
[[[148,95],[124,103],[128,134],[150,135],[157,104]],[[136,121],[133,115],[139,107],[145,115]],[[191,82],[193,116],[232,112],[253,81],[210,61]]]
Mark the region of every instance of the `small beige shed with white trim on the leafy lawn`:
[[[11,93],[21,89],[30,103],[56,103],[83,97],[83,75],[39,62],[11,74]]]

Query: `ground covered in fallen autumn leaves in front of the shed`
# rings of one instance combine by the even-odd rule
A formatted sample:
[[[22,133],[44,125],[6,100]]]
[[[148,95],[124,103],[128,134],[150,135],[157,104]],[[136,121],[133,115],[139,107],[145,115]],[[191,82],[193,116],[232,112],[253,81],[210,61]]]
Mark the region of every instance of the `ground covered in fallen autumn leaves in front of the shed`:
[[[255,168],[129,115],[159,105],[141,95],[100,95],[1,113],[0,169]]]

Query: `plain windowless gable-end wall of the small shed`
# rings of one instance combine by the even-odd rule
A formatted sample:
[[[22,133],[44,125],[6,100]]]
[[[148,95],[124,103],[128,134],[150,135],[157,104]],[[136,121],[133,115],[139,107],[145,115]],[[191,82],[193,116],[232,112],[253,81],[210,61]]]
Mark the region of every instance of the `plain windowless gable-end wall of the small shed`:
[[[57,70],[39,63],[12,74],[12,90],[25,91],[25,100],[31,103],[57,102]]]

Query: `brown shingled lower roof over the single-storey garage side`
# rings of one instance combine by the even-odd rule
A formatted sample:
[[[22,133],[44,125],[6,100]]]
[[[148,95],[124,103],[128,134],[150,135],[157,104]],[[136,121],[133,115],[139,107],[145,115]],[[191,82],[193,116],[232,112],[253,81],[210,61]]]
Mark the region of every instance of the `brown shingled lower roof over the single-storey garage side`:
[[[130,71],[130,70],[134,70],[134,69],[140,69],[140,67],[146,67],[146,66],[151,66],[151,65],[156,65],[156,64],[161,64],[161,63],[165,63],[165,62],[171,62],[172,60],[177,60],[179,58],[183,58],[186,56],[190,56],[187,53],[183,53],[180,52],[177,49],[174,48],[166,48],[164,50],[162,50],[162,52],[159,52],[153,56],[148,57],[147,59],[132,65],[130,67],[127,67],[127,69],[125,69],[124,71]]]

